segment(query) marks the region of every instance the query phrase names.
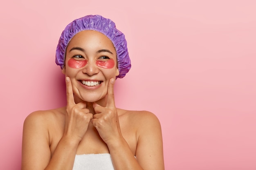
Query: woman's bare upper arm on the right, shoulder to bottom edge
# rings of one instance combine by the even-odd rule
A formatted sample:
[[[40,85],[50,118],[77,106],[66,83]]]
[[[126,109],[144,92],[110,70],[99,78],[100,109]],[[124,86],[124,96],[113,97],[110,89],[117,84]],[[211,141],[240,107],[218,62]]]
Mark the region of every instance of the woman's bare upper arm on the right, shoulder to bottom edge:
[[[159,120],[150,112],[142,113],[138,119],[141,124],[137,131],[137,161],[144,170],[164,170],[162,130]]]

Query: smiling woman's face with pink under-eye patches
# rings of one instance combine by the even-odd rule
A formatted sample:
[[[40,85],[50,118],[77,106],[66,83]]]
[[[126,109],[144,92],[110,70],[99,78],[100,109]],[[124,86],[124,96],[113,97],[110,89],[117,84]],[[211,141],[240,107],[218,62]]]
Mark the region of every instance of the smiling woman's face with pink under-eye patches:
[[[67,46],[63,73],[70,77],[76,97],[86,102],[103,99],[109,80],[119,75],[115,47],[102,33],[81,31]]]

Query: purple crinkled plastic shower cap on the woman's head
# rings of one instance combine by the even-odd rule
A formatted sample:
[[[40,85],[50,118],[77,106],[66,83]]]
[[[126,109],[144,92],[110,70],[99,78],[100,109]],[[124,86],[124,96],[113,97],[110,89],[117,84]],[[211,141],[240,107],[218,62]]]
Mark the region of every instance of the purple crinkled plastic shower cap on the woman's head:
[[[94,30],[106,35],[114,44],[117,52],[117,63],[119,75],[116,78],[123,78],[131,68],[130,57],[127,49],[125,36],[119,31],[115,23],[101,15],[87,15],[71,22],[63,30],[56,49],[57,65],[64,67],[67,44],[71,38],[84,30]]]

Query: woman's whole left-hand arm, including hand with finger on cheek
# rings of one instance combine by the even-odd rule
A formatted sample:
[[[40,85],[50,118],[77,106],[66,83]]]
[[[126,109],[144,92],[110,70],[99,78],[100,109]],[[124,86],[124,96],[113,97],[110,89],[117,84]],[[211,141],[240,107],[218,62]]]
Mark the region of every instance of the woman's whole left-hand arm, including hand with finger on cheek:
[[[67,107],[64,133],[51,155],[49,130],[50,111],[31,113],[24,122],[22,170],[72,170],[79,142],[88,129],[92,114],[86,104],[75,104],[70,79],[66,78]],[[62,113],[58,113],[62,114]],[[64,119],[56,119],[64,121]]]

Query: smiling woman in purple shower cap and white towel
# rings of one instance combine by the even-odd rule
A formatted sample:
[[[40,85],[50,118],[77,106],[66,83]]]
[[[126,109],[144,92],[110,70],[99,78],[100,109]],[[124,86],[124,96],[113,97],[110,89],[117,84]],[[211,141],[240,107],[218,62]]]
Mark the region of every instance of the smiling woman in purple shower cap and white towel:
[[[114,84],[130,69],[124,34],[100,15],[71,22],[56,50],[67,106],[24,122],[22,170],[164,170],[159,121],[115,107]]]

